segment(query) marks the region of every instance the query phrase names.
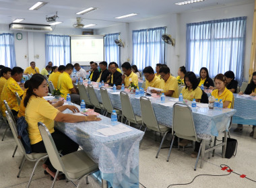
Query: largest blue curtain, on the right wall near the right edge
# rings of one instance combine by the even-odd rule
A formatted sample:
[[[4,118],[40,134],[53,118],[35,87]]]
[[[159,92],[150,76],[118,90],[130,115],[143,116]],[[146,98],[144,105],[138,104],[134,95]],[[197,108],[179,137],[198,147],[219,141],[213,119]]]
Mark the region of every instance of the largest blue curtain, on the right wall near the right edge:
[[[202,66],[210,77],[233,71],[243,81],[247,17],[187,23],[187,70],[199,76]]]

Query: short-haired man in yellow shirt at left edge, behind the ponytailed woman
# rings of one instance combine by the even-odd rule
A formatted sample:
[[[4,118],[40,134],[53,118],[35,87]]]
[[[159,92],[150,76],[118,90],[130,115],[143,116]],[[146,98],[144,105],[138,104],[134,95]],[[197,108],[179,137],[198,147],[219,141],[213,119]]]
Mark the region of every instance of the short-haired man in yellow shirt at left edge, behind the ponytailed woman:
[[[7,101],[13,115],[17,116],[19,111],[19,105],[15,96],[15,92],[18,93],[18,95],[21,97],[24,94],[23,85],[20,87],[18,82],[22,80],[23,75],[23,69],[15,66],[11,70],[11,77],[7,80],[3,87],[3,91],[1,93],[1,111],[3,116],[5,117],[5,104],[3,103],[3,100]]]

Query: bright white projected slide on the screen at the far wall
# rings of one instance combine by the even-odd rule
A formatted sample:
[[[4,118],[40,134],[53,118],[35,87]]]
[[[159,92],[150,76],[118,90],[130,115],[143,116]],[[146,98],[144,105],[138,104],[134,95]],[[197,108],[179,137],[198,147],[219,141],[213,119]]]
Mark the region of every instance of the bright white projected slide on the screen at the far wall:
[[[104,36],[71,36],[71,62],[90,65],[104,60]]]

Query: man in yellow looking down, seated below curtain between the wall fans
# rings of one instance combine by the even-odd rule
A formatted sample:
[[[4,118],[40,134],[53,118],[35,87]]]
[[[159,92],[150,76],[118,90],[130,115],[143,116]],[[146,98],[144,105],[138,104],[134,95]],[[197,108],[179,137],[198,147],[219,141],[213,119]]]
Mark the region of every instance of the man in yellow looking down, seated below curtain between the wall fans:
[[[154,69],[152,68],[152,66],[146,66],[143,69],[143,75],[146,79],[145,90],[147,90],[148,87],[154,87],[154,88],[160,87],[160,78],[154,74]]]

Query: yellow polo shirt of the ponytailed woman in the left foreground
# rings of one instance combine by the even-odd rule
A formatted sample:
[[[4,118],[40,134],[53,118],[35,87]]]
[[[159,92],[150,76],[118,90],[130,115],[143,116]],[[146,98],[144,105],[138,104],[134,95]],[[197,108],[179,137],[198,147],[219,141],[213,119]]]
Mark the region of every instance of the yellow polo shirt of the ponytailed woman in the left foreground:
[[[53,107],[42,97],[32,95],[28,101],[25,110],[25,120],[28,123],[28,137],[30,144],[36,144],[42,141],[41,134],[38,129],[38,122],[42,122],[52,134],[54,130],[54,119],[59,110]]]

